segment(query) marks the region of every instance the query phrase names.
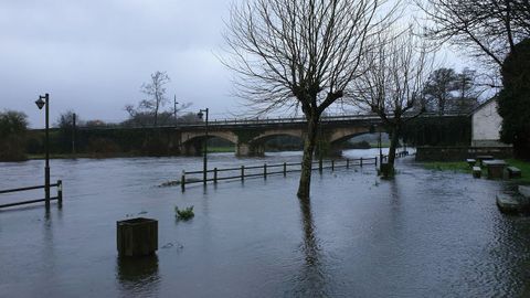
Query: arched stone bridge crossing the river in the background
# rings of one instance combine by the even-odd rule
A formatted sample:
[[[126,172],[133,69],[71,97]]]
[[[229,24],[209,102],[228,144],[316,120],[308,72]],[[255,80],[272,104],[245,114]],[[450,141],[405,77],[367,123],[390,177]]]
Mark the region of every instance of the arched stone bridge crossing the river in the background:
[[[377,116],[328,117],[321,121],[318,136],[319,148],[326,153],[340,153],[340,145],[359,135],[382,130]],[[237,156],[263,156],[265,142],[278,136],[304,139],[307,124],[301,118],[271,120],[211,121],[208,138],[220,138],[234,143]],[[183,125],[176,128],[180,151],[184,155],[200,155],[206,139],[205,124]]]

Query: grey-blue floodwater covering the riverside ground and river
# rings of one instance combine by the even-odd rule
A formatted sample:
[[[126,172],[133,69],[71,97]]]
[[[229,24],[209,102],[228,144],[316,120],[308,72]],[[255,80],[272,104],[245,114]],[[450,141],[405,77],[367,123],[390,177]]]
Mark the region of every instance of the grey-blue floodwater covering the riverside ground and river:
[[[349,150],[374,157],[377,150]],[[211,155],[210,167],[299,161]],[[530,219],[495,205],[499,181],[399,161],[218,185],[159,188],[201,158],[53,160],[64,205],[0,211],[0,297],[526,297]],[[0,189],[41,184],[43,161],[0,163]],[[54,190],[52,190],[53,194]],[[42,198],[0,195],[0,202]],[[179,222],[174,206],[194,206]],[[136,262],[116,251],[116,221],[159,221],[159,251]]]

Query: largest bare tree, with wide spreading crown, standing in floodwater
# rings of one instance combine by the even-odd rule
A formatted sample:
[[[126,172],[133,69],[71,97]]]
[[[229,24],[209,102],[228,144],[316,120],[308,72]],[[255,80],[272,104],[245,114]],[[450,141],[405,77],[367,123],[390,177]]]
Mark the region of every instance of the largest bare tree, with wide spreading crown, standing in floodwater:
[[[254,0],[232,8],[225,65],[258,113],[301,109],[307,119],[298,196],[309,198],[322,113],[361,76],[367,41],[395,8],[386,0]]]

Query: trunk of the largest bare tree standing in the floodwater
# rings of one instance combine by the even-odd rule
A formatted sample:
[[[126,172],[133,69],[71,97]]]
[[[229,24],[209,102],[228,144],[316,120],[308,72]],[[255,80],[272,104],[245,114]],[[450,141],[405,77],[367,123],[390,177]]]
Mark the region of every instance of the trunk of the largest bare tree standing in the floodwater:
[[[298,185],[298,198],[309,199],[311,188],[312,155],[317,143],[317,131],[319,119],[317,116],[307,117],[307,138],[304,141],[304,156],[301,158],[301,174]]]

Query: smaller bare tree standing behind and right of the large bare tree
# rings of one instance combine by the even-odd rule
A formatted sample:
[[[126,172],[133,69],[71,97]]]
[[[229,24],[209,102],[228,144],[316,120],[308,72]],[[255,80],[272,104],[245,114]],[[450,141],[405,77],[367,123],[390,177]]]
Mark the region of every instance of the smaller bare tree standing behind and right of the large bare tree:
[[[353,104],[379,115],[390,135],[389,167],[394,167],[400,130],[425,109],[423,91],[431,74],[434,54],[406,30],[378,36],[379,46],[365,55],[362,63],[367,73],[354,83]]]

